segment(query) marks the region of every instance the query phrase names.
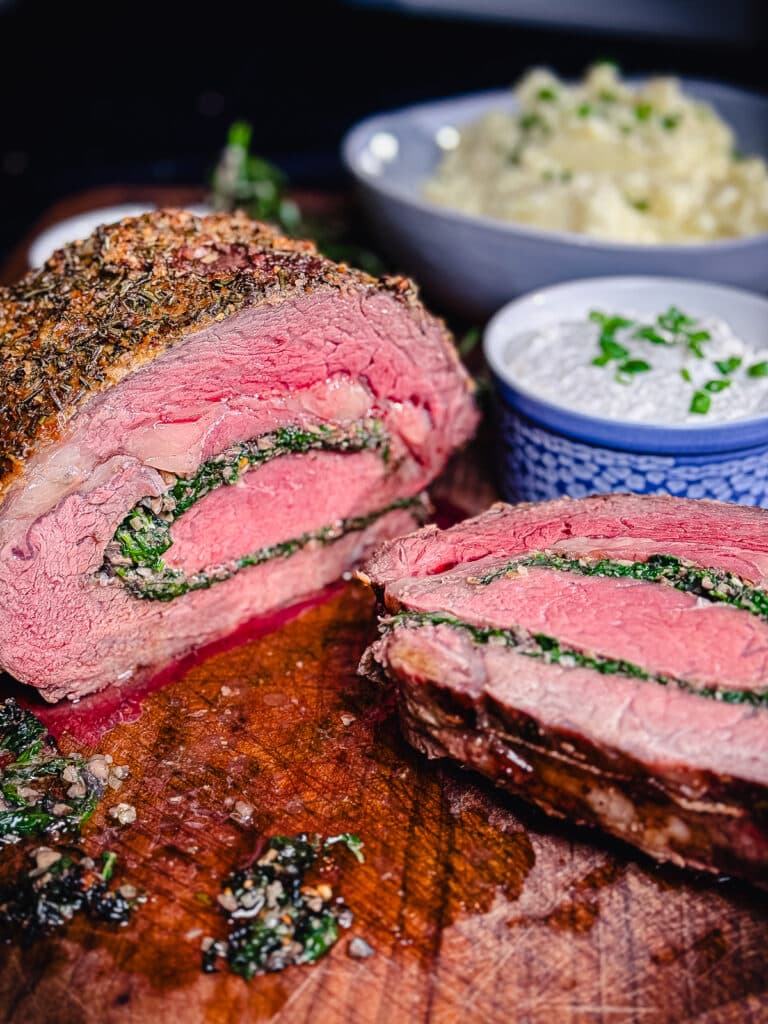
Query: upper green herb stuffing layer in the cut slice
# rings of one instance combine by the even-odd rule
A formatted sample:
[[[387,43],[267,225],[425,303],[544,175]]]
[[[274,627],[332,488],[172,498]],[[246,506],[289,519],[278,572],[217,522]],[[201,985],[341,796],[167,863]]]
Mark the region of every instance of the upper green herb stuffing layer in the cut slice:
[[[647,561],[631,562],[613,558],[568,558],[551,551],[538,551],[511,559],[471,583],[486,586],[503,577],[514,575],[520,568],[556,569],[580,575],[607,577],[610,579],[641,580],[660,583],[686,594],[730,604],[760,618],[768,620],[768,593],[725,569],[707,568],[674,555],[650,555]]]

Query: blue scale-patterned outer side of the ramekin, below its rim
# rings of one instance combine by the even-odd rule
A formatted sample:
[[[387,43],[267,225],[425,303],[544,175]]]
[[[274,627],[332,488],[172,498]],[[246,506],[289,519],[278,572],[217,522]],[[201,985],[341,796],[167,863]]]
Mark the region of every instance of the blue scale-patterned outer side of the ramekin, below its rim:
[[[646,455],[572,440],[497,403],[503,497],[512,502],[631,490],[768,507],[768,443],[721,455]]]

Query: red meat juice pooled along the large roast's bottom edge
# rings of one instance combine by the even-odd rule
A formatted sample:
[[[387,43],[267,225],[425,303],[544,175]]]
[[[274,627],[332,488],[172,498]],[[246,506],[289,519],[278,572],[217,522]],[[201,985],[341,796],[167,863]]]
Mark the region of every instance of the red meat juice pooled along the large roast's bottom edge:
[[[108,686],[78,701],[60,700],[56,705],[49,705],[30,687],[10,679],[7,685],[2,686],[0,694],[14,697],[24,708],[37,715],[54,739],[58,739],[62,732],[67,732],[77,742],[93,745],[115,726],[135,722],[141,715],[143,700],[151,693],[177,682],[190,669],[202,665],[214,654],[232,650],[268,633],[273,633],[305,611],[329,601],[343,587],[342,581],[331,584],[303,601],[250,620],[228,636],[203,645],[147,679],[125,686]]]

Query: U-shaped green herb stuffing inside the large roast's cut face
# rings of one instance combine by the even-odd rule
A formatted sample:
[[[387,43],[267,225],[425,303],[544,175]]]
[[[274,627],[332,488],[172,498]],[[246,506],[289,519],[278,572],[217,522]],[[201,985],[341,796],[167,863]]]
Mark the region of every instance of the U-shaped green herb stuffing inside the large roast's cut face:
[[[290,558],[309,544],[332,544],[346,534],[366,529],[387,512],[396,509],[418,512],[423,509],[421,496],[400,498],[384,508],[339,519],[199,572],[187,574],[165,564],[163,555],[173,543],[172,524],[202,498],[218,487],[237,483],[243,473],[272,459],[313,451],[378,451],[386,463],[389,460],[389,438],[380,420],[361,420],[349,427],[325,424],[282,427],[241,442],[204,462],[194,476],[178,478],[166,494],[142,499],[128,513],[108,545],[101,572],[106,578],[120,580],[134,597],[171,601],[189,591],[206,590],[229,580],[244,568],[262,565],[275,558]]]

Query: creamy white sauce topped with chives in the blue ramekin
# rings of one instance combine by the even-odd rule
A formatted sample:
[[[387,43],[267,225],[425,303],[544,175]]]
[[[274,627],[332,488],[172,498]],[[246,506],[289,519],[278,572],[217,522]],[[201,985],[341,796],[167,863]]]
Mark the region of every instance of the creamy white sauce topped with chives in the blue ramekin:
[[[644,326],[654,321],[638,312],[602,311]],[[685,344],[660,345],[635,338],[635,330],[634,326],[618,329],[614,338],[628,350],[627,358],[650,366],[640,373],[617,375],[620,359],[605,366],[593,365],[593,358],[601,354],[601,330],[587,318],[552,324],[518,336],[509,345],[506,364],[512,380],[532,394],[565,409],[610,420],[707,427],[768,415],[768,377],[748,374],[750,367],[768,360],[768,348],[751,347],[725,322],[715,317],[695,323],[696,331],[710,335],[700,344],[701,358]],[[768,325],[766,332],[768,342]],[[724,374],[716,367],[717,360],[732,356],[741,359],[736,370]],[[683,378],[681,371],[689,375],[690,381]],[[724,390],[712,392],[706,389],[712,381],[729,383]],[[710,399],[705,414],[691,412],[696,392]]]

